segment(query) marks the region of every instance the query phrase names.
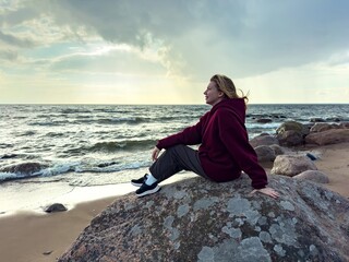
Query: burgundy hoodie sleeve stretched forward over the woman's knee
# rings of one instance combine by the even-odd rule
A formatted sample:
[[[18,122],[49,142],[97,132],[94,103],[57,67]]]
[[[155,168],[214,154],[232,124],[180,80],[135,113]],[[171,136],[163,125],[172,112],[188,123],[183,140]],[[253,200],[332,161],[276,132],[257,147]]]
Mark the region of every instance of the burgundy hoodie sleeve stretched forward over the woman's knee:
[[[169,135],[157,142],[156,147],[159,150],[168,148],[173,145],[184,144],[184,145],[195,145],[202,142],[202,129],[203,122],[206,115],[203,116],[200,121],[192,127],[185,128],[183,131]]]

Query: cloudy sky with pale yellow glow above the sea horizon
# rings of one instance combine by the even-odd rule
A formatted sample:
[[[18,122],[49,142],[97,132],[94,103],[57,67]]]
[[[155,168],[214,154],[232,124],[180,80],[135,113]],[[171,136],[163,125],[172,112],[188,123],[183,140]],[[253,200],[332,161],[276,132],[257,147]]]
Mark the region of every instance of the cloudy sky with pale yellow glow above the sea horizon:
[[[0,104],[349,103],[347,0],[0,0]]]

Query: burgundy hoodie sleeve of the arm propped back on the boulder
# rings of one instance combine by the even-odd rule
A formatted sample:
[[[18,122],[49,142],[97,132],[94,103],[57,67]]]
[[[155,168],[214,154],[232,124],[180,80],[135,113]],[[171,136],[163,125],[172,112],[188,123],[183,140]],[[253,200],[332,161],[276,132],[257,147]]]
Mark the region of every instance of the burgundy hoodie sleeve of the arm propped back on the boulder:
[[[267,176],[257,162],[257,155],[249,143],[248,132],[239,117],[232,110],[218,114],[219,138],[241,170],[249,175],[254,189],[265,188]]]

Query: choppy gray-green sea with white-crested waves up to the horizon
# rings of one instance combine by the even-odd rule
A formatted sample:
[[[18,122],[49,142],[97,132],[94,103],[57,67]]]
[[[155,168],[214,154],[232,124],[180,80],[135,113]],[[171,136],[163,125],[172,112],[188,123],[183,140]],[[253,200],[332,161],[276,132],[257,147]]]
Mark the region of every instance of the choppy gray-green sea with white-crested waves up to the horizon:
[[[0,186],[124,183],[144,175],[158,139],[195,124],[207,105],[0,105]],[[252,139],[287,120],[349,121],[349,105],[249,105]],[[28,175],[4,171],[36,163]],[[34,180],[35,179],[35,180]]]

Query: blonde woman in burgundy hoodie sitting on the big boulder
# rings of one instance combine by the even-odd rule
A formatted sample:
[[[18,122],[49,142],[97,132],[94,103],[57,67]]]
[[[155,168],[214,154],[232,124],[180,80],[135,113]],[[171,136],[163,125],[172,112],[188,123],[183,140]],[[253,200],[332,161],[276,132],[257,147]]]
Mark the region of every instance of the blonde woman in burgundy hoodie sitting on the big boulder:
[[[195,126],[158,141],[151,174],[131,180],[140,187],[136,195],[155,193],[163,180],[191,170],[216,182],[231,181],[244,171],[252,180],[252,192],[278,198],[274,189],[266,187],[267,176],[249,143],[244,126],[246,97],[239,97],[232,81],[220,74],[210,79],[204,95],[212,109]],[[198,151],[188,146],[195,144],[201,144]],[[163,148],[166,151],[158,157]]]

